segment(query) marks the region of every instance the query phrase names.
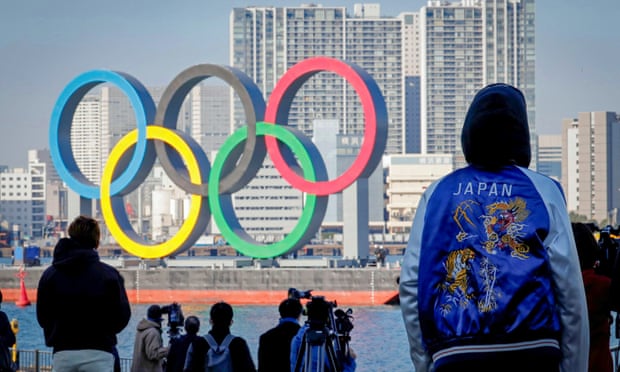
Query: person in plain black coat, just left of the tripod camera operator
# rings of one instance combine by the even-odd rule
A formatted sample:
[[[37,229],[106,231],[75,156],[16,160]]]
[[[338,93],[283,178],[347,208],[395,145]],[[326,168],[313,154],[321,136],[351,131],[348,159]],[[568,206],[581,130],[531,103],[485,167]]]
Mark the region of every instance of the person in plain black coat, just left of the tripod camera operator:
[[[258,341],[258,372],[290,369],[291,340],[299,331],[302,306],[298,299],[289,298],[280,303],[278,311],[279,324]]]

